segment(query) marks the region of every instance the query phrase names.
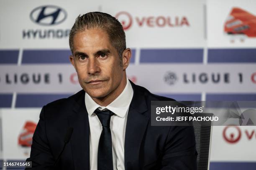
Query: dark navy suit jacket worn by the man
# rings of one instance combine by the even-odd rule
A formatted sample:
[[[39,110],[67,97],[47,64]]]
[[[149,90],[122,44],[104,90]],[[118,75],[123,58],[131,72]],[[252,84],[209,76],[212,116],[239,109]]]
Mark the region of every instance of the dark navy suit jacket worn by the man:
[[[130,81],[131,82],[131,81]],[[196,170],[197,152],[192,126],[151,126],[151,100],[173,100],[154,95],[131,82],[133,99],[125,131],[125,170]],[[90,127],[84,90],[45,105],[33,135],[34,170],[90,170]],[[57,167],[51,168],[73,133]],[[28,170],[32,170],[29,168]]]

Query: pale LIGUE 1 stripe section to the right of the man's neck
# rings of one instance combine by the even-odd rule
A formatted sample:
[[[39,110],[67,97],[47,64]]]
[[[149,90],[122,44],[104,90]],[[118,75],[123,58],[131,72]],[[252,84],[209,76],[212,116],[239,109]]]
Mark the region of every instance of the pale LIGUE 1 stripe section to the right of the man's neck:
[[[129,66],[128,76],[154,93],[251,93],[255,71],[253,64],[141,64]]]

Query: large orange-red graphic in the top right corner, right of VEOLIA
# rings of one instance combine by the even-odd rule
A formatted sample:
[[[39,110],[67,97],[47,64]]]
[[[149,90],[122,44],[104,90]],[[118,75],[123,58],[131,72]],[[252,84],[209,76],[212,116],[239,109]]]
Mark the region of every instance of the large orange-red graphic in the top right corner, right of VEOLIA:
[[[224,32],[229,35],[256,37],[256,16],[234,7],[225,22]]]

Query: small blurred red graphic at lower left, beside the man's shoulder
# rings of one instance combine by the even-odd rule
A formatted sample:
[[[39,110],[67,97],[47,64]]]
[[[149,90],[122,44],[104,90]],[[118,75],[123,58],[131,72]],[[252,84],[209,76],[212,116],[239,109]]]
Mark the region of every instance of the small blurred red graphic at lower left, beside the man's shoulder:
[[[27,121],[18,138],[18,145],[22,147],[31,147],[33,134],[36,130],[36,123]]]

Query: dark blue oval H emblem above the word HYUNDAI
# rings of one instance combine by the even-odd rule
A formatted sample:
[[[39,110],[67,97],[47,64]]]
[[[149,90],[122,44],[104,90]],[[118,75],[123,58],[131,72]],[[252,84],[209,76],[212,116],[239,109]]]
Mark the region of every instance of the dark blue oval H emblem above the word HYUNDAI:
[[[40,6],[33,9],[30,19],[39,25],[57,25],[67,18],[67,12],[54,5]]]

